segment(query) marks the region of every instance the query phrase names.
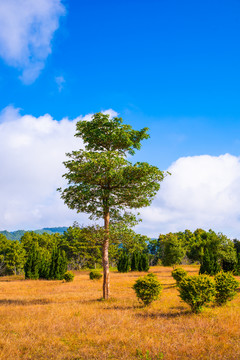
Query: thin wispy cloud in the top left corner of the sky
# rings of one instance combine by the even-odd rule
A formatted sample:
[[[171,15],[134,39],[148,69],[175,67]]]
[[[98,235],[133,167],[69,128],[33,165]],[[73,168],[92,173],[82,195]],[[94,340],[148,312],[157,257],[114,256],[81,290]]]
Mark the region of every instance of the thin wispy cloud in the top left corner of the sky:
[[[0,56],[33,82],[51,53],[51,40],[65,13],[61,0],[0,1]]]

